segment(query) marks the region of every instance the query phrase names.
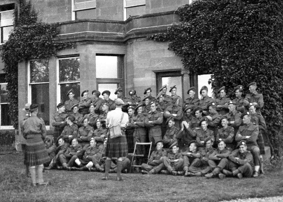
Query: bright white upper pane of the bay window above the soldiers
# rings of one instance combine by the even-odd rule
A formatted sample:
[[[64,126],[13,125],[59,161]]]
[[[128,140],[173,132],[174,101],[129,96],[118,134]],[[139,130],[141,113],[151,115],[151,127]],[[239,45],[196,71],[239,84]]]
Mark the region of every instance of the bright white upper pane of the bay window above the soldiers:
[[[117,56],[96,56],[96,78],[118,78]]]

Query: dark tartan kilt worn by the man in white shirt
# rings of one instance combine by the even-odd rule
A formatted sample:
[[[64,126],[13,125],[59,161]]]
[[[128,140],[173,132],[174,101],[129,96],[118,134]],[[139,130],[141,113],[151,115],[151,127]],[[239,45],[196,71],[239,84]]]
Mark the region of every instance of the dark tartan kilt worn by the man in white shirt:
[[[119,158],[128,155],[128,144],[125,131],[121,131],[122,136],[107,139],[105,156],[110,158]]]

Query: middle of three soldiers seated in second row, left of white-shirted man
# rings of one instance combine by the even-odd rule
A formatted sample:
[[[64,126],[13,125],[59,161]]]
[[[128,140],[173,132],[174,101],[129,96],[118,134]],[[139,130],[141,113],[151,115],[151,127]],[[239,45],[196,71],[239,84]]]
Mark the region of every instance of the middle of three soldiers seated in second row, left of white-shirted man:
[[[77,140],[79,144],[82,145],[82,149],[85,150],[89,146],[89,141],[93,133],[93,127],[89,125],[88,118],[83,120],[82,125],[83,126],[78,130]]]

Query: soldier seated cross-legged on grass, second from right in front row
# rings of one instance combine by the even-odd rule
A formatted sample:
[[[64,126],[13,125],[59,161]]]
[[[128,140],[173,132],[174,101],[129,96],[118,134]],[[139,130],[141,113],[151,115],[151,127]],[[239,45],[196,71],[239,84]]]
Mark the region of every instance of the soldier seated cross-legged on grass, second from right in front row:
[[[231,151],[226,148],[226,144],[222,141],[222,139],[217,139],[218,148],[212,154],[208,156],[208,164],[210,169],[212,170],[211,173],[205,175],[207,179],[212,178],[214,176],[219,176],[220,179],[223,179],[225,175],[221,174],[225,166],[228,164],[228,157],[231,154]]]

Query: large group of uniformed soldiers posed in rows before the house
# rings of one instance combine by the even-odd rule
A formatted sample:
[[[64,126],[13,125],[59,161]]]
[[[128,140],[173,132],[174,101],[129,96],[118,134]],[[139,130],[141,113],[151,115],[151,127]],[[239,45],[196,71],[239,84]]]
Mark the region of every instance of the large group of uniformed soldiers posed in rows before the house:
[[[225,87],[217,91],[217,98],[209,97],[206,86],[201,88],[199,99],[196,88],[190,87],[185,100],[177,95],[176,86],[170,87],[171,95],[167,95],[166,85],[160,87],[156,98],[150,87],[145,89],[143,98],[135,90],[130,90],[130,97],[125,98],[119,87],[115,94],[123,100],[122,110],[129,115],[127,138],[132,137],[133,145],[152,142],[156,147],[147,161],[145,157],[151,151],[136,146],[135,154],[145,156],[135,158],[142,169],[136,171],[221,179],[257,177],[263,172],[262,132],[266,123],[260,109],[264,103],[255,82],[247,87],[250,93],[242,97],[244,87],[236,86],[235,99],[226,96]],[[59,103],[53,116],[54,144],[51,139],[45,141],[50,155],[46,168],[104,172],[103,150],[108,137],[105,120],[107,113],[115,109],[115,100],[109,98],[108,90],[93,90],[93,98],[85,90],[80,102],[72,89],[67,96],[69,100]],[[129,170],[130,159],[130,155],[123,157],[122,170]],[[113,172],[115,167],[112,159]]]

